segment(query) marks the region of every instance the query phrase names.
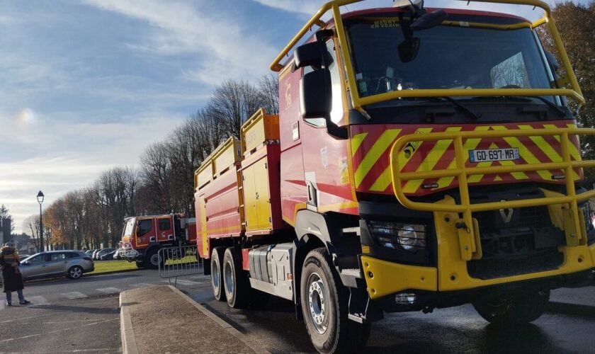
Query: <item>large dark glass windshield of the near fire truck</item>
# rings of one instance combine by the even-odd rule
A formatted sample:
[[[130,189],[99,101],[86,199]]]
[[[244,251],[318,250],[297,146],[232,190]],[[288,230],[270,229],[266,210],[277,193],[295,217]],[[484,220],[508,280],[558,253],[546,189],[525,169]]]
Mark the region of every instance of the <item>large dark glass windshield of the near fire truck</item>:
[[[407,89],[550,89],[550,74],[531,29],[493,28],[519,21],[450,15],[449,25],[412,33],[396,15],[348,19],[345,25],[359,94]],[[553,97],[546,99],[554,102]],[[391,104],[410,103],[395,100]]]

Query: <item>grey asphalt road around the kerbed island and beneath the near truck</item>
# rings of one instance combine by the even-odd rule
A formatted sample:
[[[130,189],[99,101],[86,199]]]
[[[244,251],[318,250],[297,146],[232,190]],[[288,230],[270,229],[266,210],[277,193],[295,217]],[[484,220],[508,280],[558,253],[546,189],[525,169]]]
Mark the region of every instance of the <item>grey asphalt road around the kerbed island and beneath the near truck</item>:
[[[0,353],[115,353],[118,293],[166,282],[157,271],[139,270],[29,283],[25,294],[33,306],[0,306]],[[213,299],[204,275],[181,278],[177,285],[272,353],[314,353],[291,302],[272,299],[266,310],[229,309]],[[496,329],[467,305],[387,314],[373,324],[365,353],[593,353],[593,333],[595,318],[556,313],[520,329]]]

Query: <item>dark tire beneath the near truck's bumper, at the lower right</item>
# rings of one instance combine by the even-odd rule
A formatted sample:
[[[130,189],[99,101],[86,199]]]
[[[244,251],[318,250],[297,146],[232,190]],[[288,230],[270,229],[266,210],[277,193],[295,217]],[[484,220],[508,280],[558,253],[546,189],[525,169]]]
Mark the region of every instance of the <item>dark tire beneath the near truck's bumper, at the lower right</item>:
[[[528,324],[538,319],[550,301],[550,290],[516,295],[508,299],[483,299],[473,303],[475,311],[496,326]]]

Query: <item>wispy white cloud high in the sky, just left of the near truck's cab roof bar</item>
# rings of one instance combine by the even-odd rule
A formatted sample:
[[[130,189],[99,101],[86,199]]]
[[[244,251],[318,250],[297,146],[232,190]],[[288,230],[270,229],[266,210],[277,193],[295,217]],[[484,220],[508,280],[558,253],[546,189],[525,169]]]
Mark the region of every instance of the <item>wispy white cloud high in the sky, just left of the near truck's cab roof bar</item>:
[[[200,64],[186,76],[207,84],[225,78],[256,79],[268,71],[276,50],[229,16],[178,1],[84,0],[86,4],[146,21],[154,31],[131,48],[161,55],[197,54]],[[197,60],[198,62],[198,60]],[[208,65],[203,63],[209,63]]]

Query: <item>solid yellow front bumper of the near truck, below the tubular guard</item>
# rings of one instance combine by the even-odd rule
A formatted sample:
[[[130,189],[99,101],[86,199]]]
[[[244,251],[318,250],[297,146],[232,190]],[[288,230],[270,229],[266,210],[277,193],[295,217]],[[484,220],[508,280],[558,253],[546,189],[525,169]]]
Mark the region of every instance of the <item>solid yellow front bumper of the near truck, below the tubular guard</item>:
[[[460,258],[458,260],[453,259],[450,263],[443,261],[440,264],[444,263],[444,266],[436,268],[393,263],[363,255],[361,256],[361,264],[370,299],[380,299],[387,295],[405,291],[457,292],[474,290],[525,280],[563,277],[584,271],[587,271],[585,274],[588,275],[589,270],[595,267],[595,244],[591,246],[562,247],[562,249],[564,249],[565,261],[557,269],[486,280],[472,278],[467,273],[465,262],[460,261]],[[463,264],[459,265],[458,263]],[[550,288],[563,285],[552,286]]]

